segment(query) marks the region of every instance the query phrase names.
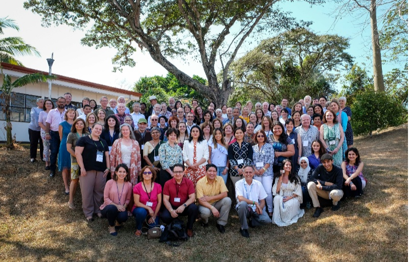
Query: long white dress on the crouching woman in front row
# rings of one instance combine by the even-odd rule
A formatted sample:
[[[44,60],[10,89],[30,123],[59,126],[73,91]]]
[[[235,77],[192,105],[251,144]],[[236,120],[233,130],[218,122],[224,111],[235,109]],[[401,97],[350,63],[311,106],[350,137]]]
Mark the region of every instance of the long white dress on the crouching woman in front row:
[[[304,210],[300,209],[300,204],[303,202],[303,191],[301,183],[297,185],[288,181],[288,184],[281,184],[280,193],[277,194],[277,184],[279,178],[272,187],[272,195],[274,195],[274,212],[272,213],[272,223],[279,227],[289,226],[304,216]],[[297,198],[292,198],[287,202],[283,202],[283,197],[290,197],[296,194]]]

